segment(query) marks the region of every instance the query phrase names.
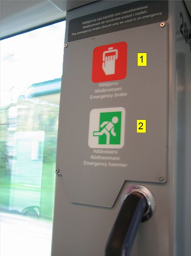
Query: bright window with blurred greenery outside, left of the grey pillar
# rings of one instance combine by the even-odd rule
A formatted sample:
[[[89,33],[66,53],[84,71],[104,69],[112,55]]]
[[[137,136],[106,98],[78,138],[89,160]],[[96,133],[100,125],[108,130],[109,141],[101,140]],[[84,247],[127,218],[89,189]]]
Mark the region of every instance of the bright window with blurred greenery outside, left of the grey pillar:
[[[0,41],[0,255],[50,256],[65,21]]]

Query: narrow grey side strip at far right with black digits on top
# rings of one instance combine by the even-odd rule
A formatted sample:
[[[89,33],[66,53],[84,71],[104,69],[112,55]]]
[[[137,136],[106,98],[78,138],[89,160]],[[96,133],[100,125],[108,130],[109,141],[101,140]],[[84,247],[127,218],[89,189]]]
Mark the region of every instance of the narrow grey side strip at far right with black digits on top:
[[[176,256],[191,256],[191,19],[182,1],[177,2],[174,247]]]

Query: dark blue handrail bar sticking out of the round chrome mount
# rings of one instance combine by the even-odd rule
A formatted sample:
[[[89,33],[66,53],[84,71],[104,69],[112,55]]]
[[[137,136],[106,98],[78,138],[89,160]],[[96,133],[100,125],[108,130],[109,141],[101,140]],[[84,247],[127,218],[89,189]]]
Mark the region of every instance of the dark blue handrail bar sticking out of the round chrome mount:
[[[105,256],[129,256],[147,200],[143,194],[132,192],[120,208],[105,248]]]

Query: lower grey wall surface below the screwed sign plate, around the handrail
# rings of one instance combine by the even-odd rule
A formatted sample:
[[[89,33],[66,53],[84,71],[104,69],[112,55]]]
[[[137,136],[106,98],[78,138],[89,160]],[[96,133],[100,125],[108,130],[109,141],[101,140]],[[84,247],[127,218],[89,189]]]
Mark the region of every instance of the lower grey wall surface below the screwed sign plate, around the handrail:
[[[122,191],[131,184],[126,182]],[[168,187],[148,183],[146,186],[157,207],[153,217],[140,225],[131,256],[171,256]],[[112,209],[70,203],[63,179],[58,175],[52,256],[104,256],[108,235],[120,209],[121,194]]]

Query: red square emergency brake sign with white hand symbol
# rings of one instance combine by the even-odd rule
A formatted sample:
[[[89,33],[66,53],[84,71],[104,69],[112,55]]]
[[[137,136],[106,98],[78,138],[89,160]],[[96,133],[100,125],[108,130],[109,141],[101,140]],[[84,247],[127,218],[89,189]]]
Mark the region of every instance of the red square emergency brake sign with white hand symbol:
[[[92,81],[124,79],[127,74],[127,43],[98,46],[93,51]]]

